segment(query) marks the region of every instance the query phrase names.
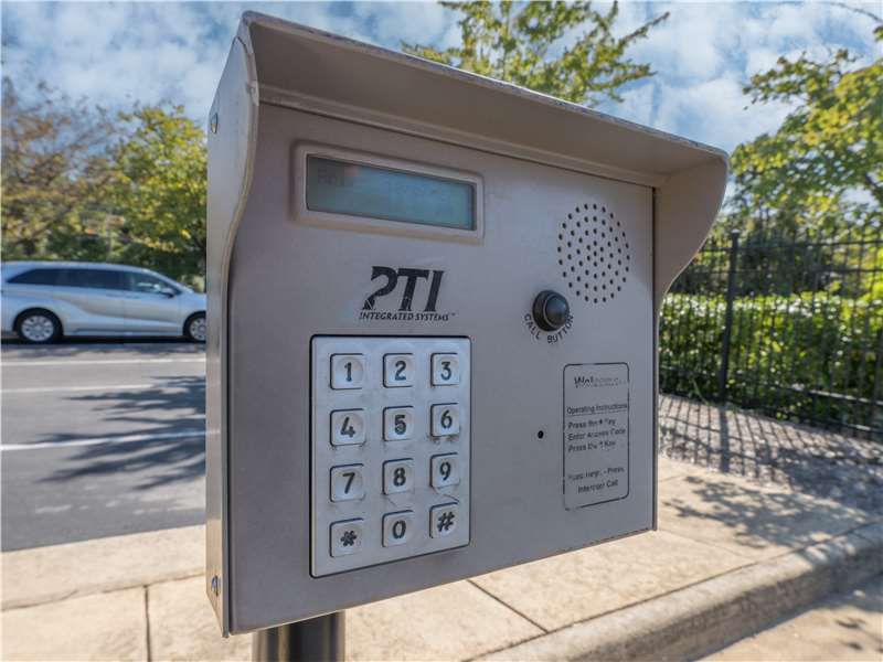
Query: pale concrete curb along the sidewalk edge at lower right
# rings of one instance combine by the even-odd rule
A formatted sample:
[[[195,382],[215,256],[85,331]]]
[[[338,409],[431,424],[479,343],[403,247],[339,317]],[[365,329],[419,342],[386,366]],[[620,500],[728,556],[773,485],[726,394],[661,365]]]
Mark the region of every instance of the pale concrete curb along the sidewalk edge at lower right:
[[[874,523],[480,659],[696,659],[882,573]]]

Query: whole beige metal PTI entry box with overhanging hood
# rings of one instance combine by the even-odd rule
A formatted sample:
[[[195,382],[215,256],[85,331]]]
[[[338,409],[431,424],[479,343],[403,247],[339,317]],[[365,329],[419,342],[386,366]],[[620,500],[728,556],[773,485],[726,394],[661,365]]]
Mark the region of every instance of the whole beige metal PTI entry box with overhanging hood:
[[[210,124],[224,633],[655,527],[657,314],[723,152],[254,13]]]

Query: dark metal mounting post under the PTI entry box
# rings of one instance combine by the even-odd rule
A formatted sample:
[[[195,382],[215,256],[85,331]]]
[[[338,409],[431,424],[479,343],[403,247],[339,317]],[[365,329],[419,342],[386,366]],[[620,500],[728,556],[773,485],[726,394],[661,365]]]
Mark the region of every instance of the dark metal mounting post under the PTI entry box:
[[[347,645],[343,611],[258,630],[252,636],[253,662],[343,662]]]

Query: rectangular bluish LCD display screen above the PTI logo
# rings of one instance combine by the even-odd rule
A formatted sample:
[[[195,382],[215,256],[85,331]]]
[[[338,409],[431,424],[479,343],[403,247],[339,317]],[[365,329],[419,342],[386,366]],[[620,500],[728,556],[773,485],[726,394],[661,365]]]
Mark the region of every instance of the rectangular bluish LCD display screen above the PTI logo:
[[[307,157],[307,209],[456,229],[476,228],[469,182]]]

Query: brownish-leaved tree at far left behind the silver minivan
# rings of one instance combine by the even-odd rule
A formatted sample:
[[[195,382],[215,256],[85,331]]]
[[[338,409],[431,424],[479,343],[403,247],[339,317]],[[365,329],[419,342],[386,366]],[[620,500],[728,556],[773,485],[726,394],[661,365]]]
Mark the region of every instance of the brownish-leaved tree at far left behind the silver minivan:
[[[44,84],[31,97],[3,78],[2,257],[104,259],[115,122]]]

